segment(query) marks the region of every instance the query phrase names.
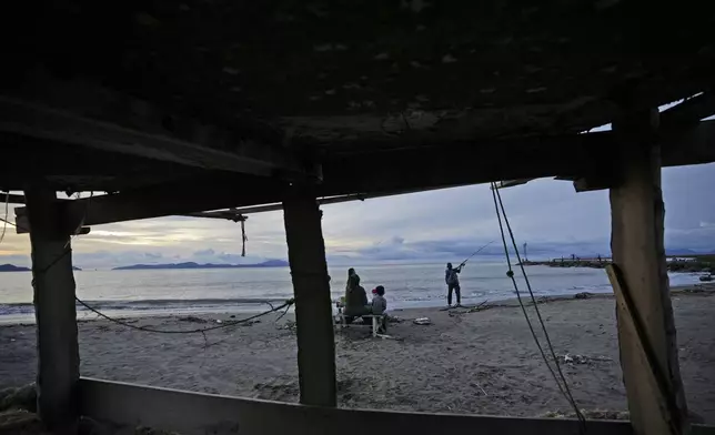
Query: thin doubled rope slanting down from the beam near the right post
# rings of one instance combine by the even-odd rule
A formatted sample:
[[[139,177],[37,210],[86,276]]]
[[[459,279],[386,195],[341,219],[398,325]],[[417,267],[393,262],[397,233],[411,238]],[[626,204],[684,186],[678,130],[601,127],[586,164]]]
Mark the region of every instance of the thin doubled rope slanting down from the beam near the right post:
[[[582,434],[586,433],[586,418],[584,417],[583,413],[581,409],[578,409],[578,405],[576,404],[576,401],[574,399],[573,394],[571,393],[571,388],[568,387],[568,383],[566,382],[566,377],[564,376],[563,372],[561,371],[561,365],[558,364],[558,358],[556,357],[556,353],[554,352],[554,347],[551,343],[551,338],[548,336],[548,332],[546,331],[546,325],[544,324],[544,321],[541,316],[541,312],[538,311],[538,304],[536,302],[536,299],[534,297],[534,293],[531,287],[531,283],[528,282],[528,276],[526,275],[526,270],[524,269],[524,265],[521,260],[521,255],[518,254],[518,247],[516,245],[516,240],[514,237],[514,233],[512,231],[512,226],[508,223],[508,219],[506,218],[506,211],[504,210],[504,204],[502,202],[502,195],[499,193],[499,188],[496,186],[496,183],[491,183],[491,189],[492,189],[492,198],[494,200],[494,210],[496,212],[496,219],[499,221],[499,229],[500,233],[502,235],[502,243],[504,246],[504,256],[506,257],[506,264],[507,264],[507,272],[506,276],[510,277],[512,281],[512,284],[514,286],[514,292],[516,293],[516,299],[518,300],[518,305],[522,308],[522,312],[524,313],[524,317],[526,318],[526,324],[528,325],[528,330],[532,333],[532,337],[534,338],[534,342],[536,343],[536,347],[538,348],[538,352],[544,360],[544,363],[546,364],[546,367],[548,368],[548,372],[553,376],[554,381],[556,382],[556,385],[558,386],[558,391],[561,394],[566,398],[566,401],[571,404],[571,406],[574,409],[574,413],[576,414],[576,418],[578,419],[580,423],[580,432]],[[501,208],[501,210],[500,210]],[[502,223],[502,215],[504,216],[504,222]],[[522,301],[522,295],[521,292],[518,291],[518,284],[516,283],[516,279],[514,277],[514,271],[512,270],[512,261],[511,256],[508,254],[508,246],[506,243],[506,235],[504,233],[504,225],[506,225],[506,230],[508,231],[508,235],[514,249],[514,252],[516,254],[516,260],[518,261],[518,264],[521,266],[522,275],[524,276],[524,281],[526,282],[526,287],[528,289],[528,294],[531,295],[531,300],[534,304],[534,310],[536,311],[536,316],[538,317],[538,322],[541,323],[542,331],[544,332],[544,336],[546,337],[546,343],[550,350],[550,353],[553,357],[554,364],[556,365],[556,371],[558,372],[558,375],[556,375],[556,371],[551,366],[551,363],[548,361],[548,357],[546,356],[546,353],[544,352],[543,346],[541,345],[541,342],[538,341],[538,337],[536,336],[536,332],[534,331],[534,326],[532,325],[531,318],[528,317],[528,314],[526,312],[526,306],[524,305],[524,302]],[[562,385],[563,383],[563,385]]]

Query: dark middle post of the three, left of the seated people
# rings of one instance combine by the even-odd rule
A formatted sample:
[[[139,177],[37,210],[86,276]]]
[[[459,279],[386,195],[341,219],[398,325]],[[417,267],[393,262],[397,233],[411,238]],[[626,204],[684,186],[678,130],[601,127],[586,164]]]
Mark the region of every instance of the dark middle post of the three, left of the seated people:
[[[301,403],[335,406],[335,342],[321,212],[310,189],[283,201],[288,257],[295,293]]]

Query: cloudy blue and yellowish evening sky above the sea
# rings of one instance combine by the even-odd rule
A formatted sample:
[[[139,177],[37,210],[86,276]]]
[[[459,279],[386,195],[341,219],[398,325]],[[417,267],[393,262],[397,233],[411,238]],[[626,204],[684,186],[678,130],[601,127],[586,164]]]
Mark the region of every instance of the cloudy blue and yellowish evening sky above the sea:
[[[715,250],[713,186],[715,164],[663,170],[667,249]],[[502,195],[517,242],[528,243],[532,257],[608,254],[607,191],[575,193],[571,182],[544,179],[505,189]],[[322,209],[326,253],[333,264],[459,262],[499,237],[486,184]],[[134,263],[286,259],[282,212],[250,215],[246,231],[248,256],[241,259],[241,230],[233,222],[164,218],[99,225],[75,237],[74,264],[105,269]],[[499,245],[485,252],[497,254]],[[0,244],[0,263],[29,265],[29,236],[8,227]]]

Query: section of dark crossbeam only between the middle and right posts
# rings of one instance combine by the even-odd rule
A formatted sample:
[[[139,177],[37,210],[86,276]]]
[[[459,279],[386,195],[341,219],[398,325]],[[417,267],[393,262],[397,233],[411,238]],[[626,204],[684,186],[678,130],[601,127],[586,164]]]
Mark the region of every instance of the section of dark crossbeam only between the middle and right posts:
[[[322,162],[321,192],[339,195],[577,175],[586,168],[611,164],[600,151],[612,146],[615,143],[606,132],[479,144],[451,143],[329,158]]]

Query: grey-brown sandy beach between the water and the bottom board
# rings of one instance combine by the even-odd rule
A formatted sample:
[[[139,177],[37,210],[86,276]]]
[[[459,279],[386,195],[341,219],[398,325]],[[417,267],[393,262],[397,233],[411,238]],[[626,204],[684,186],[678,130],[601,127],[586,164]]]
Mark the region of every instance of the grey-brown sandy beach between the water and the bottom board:
[[[715,423],[715,297],[674,293],[681,370],[688,406]],[[612,296],[540,304],[574,396],[585,409],[626,409]],[[533,308],[531,308],[533,313]],[[372,338],[366,326],[336,334],[339,403],[344,407],[537,416],[567,411],[521,310],[405,310],[391,324],[396,340]],[[416,317],[431,325],[416,325]],[[201,334],[132,331],[81,322],[81,374],[195,392],[298,401],[292,321],[263,317],[249,326]],[[197,328],[222,316],[147,317],[134,325]],[[205,322],[205,323],[204,323]],[[0,388],[33,381],[33,325],[0,327]]]

